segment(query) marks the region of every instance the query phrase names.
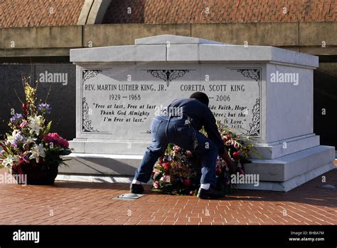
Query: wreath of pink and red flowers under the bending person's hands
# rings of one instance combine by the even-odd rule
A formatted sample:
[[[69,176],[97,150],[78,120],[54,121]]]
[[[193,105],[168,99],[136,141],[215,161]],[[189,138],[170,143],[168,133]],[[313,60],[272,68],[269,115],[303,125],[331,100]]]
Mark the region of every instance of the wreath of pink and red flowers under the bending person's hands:
[[[220,121],[218,130],[223,138],[236,170],[245,174],[244,164],[248,159],[253,143],[250,137],[243,137],[228,130]],[[201,133],[207,135],[204,130]],[[230,170],[225,160],[218,156],[216,162],[217,189],[226,194],[231,192]],[[200,160],[191,151],[170,144],[164,156],[160,157],[152,172],[152,190],[172,195],[196,195],[200,187]]]

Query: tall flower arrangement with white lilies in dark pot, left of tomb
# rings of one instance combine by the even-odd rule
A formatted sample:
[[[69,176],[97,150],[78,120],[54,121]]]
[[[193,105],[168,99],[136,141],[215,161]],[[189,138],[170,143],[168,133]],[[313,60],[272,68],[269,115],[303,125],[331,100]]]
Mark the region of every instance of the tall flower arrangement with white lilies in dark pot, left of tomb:
[[[50,133],[51,112],[48,103],[36,105],[36,87],[23,78],[25,103],[22,113],[14,113],[9,120],[11,133],[0,143],[0,168],[7,167],[18,175],[21,183],[52,184],[58,174],[58,166],[64,164],[63,155],[69,155],[69,143],[57,133]],[[22,182],[27,175],[27,182]],[[46,177],[46,178],[44,178]]]

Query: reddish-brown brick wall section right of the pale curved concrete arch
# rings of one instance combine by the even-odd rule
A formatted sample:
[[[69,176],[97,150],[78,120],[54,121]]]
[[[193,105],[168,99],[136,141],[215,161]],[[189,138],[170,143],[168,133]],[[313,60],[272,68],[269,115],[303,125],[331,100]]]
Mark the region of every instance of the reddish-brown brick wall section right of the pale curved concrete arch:
[[[287,8],[287,14],[283,8]],[[103,19],[104,24],[294,21],[337,21],[337,1],[112,0]]]

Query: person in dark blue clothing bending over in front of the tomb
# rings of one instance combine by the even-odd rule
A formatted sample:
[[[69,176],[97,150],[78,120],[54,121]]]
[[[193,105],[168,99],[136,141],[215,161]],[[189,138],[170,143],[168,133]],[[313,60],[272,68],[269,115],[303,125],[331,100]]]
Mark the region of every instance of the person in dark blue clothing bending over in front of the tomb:
[[[151,123],[151,145],[146,149],[141,164],[130,185],[130,192],[144,192],[141,182],[148,182],[156,161],[164,155],[169,143],[180,146],[201,159],[201,179],[198,197],[216,199],[224,197],[215,190],[216,160],[223,157],[235,173],[235,166],[225,149],[212,111],[208,108],[209,99],[205,93],[193,93],[190,98],[174,100]],[[208,137],[199,130],[204,127]]]

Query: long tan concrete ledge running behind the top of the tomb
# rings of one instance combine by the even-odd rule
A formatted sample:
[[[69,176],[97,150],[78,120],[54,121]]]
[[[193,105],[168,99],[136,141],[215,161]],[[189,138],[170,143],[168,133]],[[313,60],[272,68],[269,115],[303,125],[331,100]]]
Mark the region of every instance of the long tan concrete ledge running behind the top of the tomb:
[[[316,55],[337,53],[337,21],[252,24],[95,24],[84,25],[93,0],[85,0],[77,26],[0,29],[0,51],[6,48],[75,48],[125,46],[137,38],[159,34],[195,36],[248,46],[277,46]],[[103,2],[103,1],[102,1]],[[97,1],[98,3],[98,1]],[[15,46],[11,46],[11,41]],[[326,41],[326,48],[321,42]],[[37,56],[53,56],[41,51]],[[26,54],[29,54],[27,52]],[[6,56],[2,52],[2,55]],[[35,56],[35,55],[34,55]]]

